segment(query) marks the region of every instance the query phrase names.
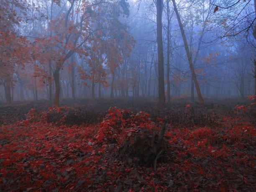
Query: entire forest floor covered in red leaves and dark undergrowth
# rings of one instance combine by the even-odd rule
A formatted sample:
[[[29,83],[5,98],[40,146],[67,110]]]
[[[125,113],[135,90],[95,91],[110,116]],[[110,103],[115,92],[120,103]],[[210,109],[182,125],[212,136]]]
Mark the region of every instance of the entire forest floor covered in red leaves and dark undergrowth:
[[[256,191],[250,101],[131,103],[1,104],[0,192]]]

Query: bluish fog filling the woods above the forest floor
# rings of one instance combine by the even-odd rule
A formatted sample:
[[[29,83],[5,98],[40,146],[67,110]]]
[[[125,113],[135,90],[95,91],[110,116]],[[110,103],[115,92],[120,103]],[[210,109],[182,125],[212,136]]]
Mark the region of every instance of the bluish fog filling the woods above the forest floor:
[[[256,95],[254,3],[2,0],[0,102]]]

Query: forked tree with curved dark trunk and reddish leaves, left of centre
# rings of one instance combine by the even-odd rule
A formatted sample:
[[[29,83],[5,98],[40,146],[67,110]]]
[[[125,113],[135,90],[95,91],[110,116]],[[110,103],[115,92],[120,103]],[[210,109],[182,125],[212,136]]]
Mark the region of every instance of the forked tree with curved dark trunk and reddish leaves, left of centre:
[[[72,9],[75,5],[77,7],[77,14],[79,19],[74,21],[70,19],[72,17]],[[69,9],[65,15],[60,14],[56,20],[50,21],[50,29],[54,32],[53,36],[42,39],[41,44],[50,44],[54,47],[55,55],[58,58],[54,59],[54,82],[55,82],[55,96],[54,105],[59,105],[60,96],[60,82],[59,72],[63,68],[63,65],[67,59],[69,59],[74,52],[79,55],[86,55],[86,44],[89,38],[96,31],[101,31],[103,28],[93,28],[95,20],[101,20],[102,22],[108,23],[113,22],[118,18],[121,13],[126,14],[127,6],[125,0],[104,2],[95,1],[89,2],[87,0],[79,1],[77,4],[76,0],[69,1]],[[105,11],[108,10],[108,11]],[[104,12],[105,11],[105,12]],[[49,50],[46,50],[49,52]],[[55,57],[56,57],[55,56]]]

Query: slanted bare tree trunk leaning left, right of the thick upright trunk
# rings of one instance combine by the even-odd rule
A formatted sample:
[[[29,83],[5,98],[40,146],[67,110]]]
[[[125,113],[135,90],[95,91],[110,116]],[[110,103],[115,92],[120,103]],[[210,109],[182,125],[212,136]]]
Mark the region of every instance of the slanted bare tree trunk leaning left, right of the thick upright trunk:
[[[182,33],[182,38],[183,38],[185,50],[186,50],[186,53],[187,53],[187,59],[189,61],[189,68],[190,68],[192,78],[193,78],[194,83],[195,83],[195,87],[196,87],[196,90],[197,90],[197,95],[198,95],[198,98],[199,98],[199,102],[201,104],[204,104],[204,100],[202,98],[199,83],[197,82],[197,77],[195,75],[195,69],[194,69],[194,66],[193,66],[193,63],[192,63],[191,53],[189,52],[189,47],[188,47],[188,44],[187,44],[187,38],[185,36],[185,32],[184,32],[184,29],[183,29],[183,26],[182,26],[182,22],[181,22],[181,19],[180,19],[180,16],[179,16],[179,12],[178,12],[175,0],[172,0],[172,3],[173,3],[174,11],[176,13],[177,20],[178,20],[178,23],[179,23],[179,28],[180,28],[180,31]]]

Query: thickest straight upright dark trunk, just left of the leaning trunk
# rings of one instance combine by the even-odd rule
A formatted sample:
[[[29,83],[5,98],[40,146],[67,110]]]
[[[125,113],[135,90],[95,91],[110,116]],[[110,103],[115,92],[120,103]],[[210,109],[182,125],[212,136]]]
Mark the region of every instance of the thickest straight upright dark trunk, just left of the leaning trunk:
[[[164,51],[162,37],[162,0],[156,0],[156,35],[158,55],[158,95],[159,103],[165,102],[164,95]]]

